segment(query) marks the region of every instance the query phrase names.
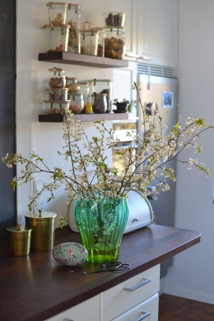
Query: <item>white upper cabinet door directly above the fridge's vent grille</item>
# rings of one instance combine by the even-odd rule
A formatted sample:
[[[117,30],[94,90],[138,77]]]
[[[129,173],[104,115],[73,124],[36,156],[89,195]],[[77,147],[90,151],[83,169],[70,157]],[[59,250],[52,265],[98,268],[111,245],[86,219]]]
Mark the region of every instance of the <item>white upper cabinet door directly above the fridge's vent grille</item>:
[[[177,67],[177,0],[138,0],[137,12],[139,61]]]

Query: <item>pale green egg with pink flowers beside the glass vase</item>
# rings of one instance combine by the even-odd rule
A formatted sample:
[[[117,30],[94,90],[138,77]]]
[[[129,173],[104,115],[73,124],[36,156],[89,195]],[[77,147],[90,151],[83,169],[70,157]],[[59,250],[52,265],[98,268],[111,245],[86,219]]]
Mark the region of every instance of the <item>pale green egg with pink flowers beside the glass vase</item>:
[[[74,242],[62,243],[55,246],[52,250],[53,258],[63,264],[69,266],[77,266],[84,263],[88,257],[86,248]]]

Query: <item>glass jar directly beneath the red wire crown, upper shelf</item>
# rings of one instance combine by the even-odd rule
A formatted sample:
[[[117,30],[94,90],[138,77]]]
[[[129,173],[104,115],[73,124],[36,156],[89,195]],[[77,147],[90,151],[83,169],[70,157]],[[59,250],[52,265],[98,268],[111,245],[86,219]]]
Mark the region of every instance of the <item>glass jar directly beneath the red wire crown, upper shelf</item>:
[[[99,30],[81,30],[82,55],[97,56]]]

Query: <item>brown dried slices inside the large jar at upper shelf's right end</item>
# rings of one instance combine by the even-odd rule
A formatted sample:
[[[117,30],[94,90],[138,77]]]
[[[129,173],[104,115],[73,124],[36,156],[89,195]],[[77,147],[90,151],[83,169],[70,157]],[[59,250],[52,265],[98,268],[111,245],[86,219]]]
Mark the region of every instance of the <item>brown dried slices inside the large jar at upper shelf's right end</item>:
[[[105,57],[122,59],[124,55],[124,41],[115,37],[105,39]]]

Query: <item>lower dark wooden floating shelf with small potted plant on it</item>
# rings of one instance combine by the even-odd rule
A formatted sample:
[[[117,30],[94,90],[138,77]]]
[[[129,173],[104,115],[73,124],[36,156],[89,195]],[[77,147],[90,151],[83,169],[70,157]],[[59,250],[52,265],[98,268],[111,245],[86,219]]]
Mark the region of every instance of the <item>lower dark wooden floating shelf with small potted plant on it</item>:
[[[126,120],[129,119],[129,114],[76,114],[75,117],[81,121],[95,121],[98,118],[104,120]],[[62,123],[63,115],[39,115],[39,122]]]

